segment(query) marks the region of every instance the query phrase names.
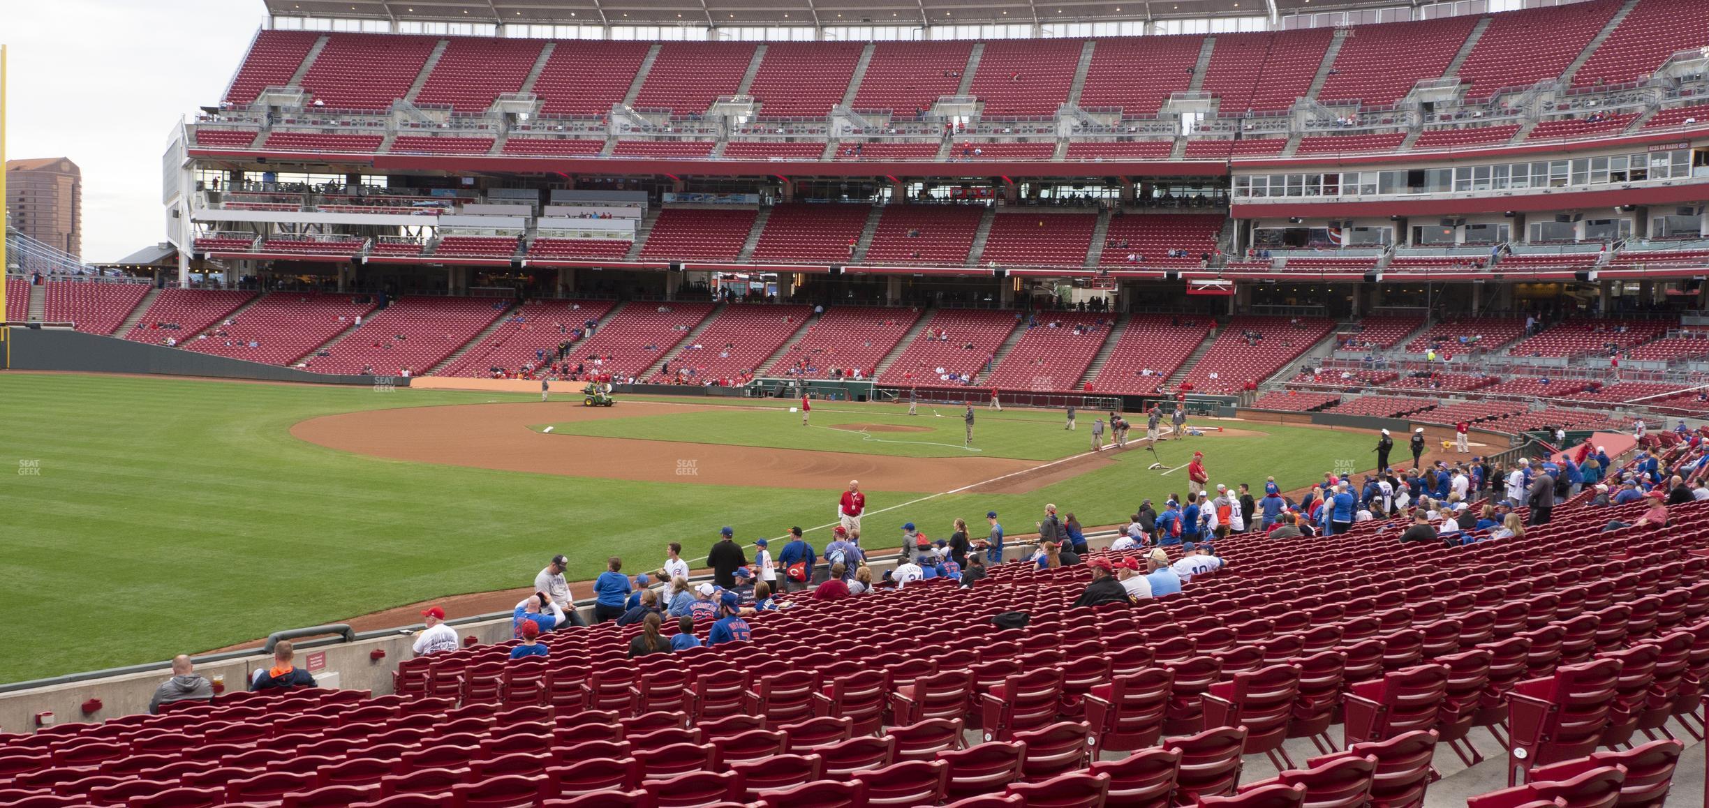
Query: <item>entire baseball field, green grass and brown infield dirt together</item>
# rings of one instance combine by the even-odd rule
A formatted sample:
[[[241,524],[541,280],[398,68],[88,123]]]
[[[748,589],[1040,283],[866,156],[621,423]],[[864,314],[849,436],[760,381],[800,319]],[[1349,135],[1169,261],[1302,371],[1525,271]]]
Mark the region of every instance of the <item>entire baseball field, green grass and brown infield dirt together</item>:
[[[554,553],[573,581],[656,569],[667,542],[701,557],[808,528],[863,480],[863,543],[904,521],[948,536],[998,511],[1031,533],[1046,502],[1082,524],[1212,482],[1299,489],[1365,468],[1350,430],[1205,422],[1222,432],[1092,454],[1063,413],[815,401],[321,388],[161,378],[0,374],[0,682],[149,663],[434,598],[530,586]],[[1136,422],[1135,437],[1143,434]],[[1107,441],[1107,436],[1106,436]],[[1162,468],[1150,468],[1160,463]],[[1167,473],[1166,473],[1167,471]],[[584,594],[584,588],[578,589]]]

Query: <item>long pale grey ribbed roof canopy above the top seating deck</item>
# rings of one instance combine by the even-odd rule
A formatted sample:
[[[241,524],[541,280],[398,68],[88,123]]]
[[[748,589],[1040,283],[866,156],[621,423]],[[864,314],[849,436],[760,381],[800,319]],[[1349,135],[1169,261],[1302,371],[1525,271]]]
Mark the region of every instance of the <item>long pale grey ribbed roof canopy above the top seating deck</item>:
[[[1417,0],[265,0],[277,17],[584,26],[894,26],[1282,17]]]

